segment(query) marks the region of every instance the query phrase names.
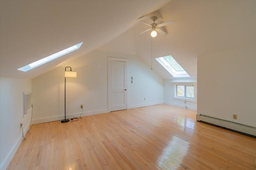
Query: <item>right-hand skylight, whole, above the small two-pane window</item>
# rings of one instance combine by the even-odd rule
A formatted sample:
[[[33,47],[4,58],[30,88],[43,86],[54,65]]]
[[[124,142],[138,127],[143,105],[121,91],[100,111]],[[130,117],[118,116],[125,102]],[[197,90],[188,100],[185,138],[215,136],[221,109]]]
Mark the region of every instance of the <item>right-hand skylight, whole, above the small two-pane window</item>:
[[[160,63],[174,77],[190,77],[171,55],[157,58],[156,61],[158,61],[158,63]]]

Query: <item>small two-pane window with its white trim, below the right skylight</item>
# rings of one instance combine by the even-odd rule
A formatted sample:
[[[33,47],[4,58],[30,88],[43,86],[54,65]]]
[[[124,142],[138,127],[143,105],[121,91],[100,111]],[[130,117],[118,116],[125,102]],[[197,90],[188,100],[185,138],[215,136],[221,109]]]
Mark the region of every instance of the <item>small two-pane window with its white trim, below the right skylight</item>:
[[[176,100],[196,102],[196,82],[173,82]]]

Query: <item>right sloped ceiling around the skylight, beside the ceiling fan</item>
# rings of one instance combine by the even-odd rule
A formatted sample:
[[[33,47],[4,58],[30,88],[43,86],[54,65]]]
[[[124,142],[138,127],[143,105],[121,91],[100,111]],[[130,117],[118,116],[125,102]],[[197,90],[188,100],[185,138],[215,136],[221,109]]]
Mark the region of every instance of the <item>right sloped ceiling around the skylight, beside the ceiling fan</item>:
[[[152,67],[164,79],[172,79],[173,76],[155,58],[172,55],[191,78],[196,78],[198,56],[256,47],[256,1],[178,0],[169,2],[158,12],[163,20],[156,20],[156,23],[175,21],[172,25],[164,26],[167,35],[158,33],[152,38]],[[152,23],[148,19],[144,21]],[[114,41],[125,41],[124,36],[133,33],[136,54],[151,66],[150,31],[138,35],[146,29],[147,25],[139,23],[129,33],[116,38],[119,40],[110,41],[104,46],[110,47]],[[116,43],[113,45],[118,49]],[[104,46],[99,49],[104,49]]]

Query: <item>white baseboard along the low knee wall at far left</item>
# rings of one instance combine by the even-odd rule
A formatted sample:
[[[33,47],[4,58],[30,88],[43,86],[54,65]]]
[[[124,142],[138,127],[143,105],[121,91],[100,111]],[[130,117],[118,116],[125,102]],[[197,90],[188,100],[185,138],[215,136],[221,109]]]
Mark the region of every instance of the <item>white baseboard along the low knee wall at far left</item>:
[[[28,128],[29,128],[29,124],[24,128],[24,134],[25,135],[28,132]],[[21,133],[21,135],[18,137],[17,141],[14,143],[14,145],[12,146],[10,151],[8,152],[6,158],[3,160],[2,164],[0,165],[0,170],[6,170],[7,169],[7,167],[10,164],[14,154],[16,153],[18,148],[20,147],[20,144],[23,141],[22,129],[20,130],[20,133]]]

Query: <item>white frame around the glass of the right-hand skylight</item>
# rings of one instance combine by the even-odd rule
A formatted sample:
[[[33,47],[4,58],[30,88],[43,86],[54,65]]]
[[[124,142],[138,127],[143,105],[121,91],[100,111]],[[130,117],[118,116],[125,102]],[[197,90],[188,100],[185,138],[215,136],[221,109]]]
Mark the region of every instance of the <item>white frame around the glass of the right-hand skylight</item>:
[[[171,55],[164,56],[164,57],[169,57],[169,56],[172,57]],[[158,63],[160,63],[170,74],[172,74],[172,76],[174,76],[174,77],[190,77],[188,75],[188,73],[184,70],[184,68],[182,68],[182,66],[180,66],[180,67],[183,70],[177,71],[174,69],[174,67],[168,61],[166,61],[166,59],[164,59],[164,57],[156,58],[156,61],[158,61]],[[174,59],[174,61],[176,62],[176,64],[180,65],[175,59]]]

